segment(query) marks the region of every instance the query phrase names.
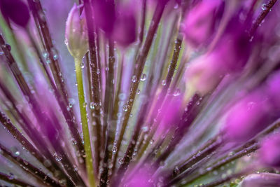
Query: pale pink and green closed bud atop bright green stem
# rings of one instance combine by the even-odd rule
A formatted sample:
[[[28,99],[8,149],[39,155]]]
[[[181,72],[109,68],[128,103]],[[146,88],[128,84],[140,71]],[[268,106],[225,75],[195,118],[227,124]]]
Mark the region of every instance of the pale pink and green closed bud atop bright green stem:
[[[65,43],[74,58],[82,58],[87,52],[87,27],[84,12],[80,15],[81,6],[73,5],[66,21]]]

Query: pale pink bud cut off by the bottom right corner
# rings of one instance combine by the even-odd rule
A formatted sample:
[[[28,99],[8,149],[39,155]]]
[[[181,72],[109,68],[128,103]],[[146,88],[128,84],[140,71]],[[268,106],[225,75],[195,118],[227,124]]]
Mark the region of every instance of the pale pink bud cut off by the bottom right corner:
[[[260,173],[249,174],[246,176],[238,187],[263,187],[263,186],[279,186],[280,174]]]

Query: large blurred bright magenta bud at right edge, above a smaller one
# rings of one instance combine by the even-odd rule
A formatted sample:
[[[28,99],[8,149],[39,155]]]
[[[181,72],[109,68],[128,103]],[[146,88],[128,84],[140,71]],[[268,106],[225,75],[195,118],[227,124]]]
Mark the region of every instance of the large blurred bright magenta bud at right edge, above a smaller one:
[[[241,99],[228,114],[226,130],[233,141],[246,141],[280,117],[280,73]]]

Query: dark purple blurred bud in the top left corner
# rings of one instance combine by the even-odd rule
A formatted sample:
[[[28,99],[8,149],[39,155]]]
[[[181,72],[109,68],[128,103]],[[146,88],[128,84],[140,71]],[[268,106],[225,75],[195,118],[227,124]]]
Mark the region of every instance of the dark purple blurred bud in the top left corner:
[[[12,20],[21,27],[26,27],[30,15],[27,5],[21,0],[1,0],[0,9],[7,22]]]

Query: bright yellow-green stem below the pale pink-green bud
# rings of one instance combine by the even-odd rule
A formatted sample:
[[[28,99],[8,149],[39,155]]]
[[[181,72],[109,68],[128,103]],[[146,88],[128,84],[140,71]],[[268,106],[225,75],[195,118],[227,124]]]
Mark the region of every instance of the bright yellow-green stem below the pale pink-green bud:
[[[83,91],[83,74],[80,67],[82,60],[75,58],[76,80],[78,87],[78,101],[80,106],[80,120],[83,127],[83,140],[85,146],[85,164],[87,168],[87,179],[90,183],[90,187],[97,186],[95,181],[95,174],[92,162],[92,148],[90,145],[90,131],[87,124],[87,108],[85,104],[85,95]]]

